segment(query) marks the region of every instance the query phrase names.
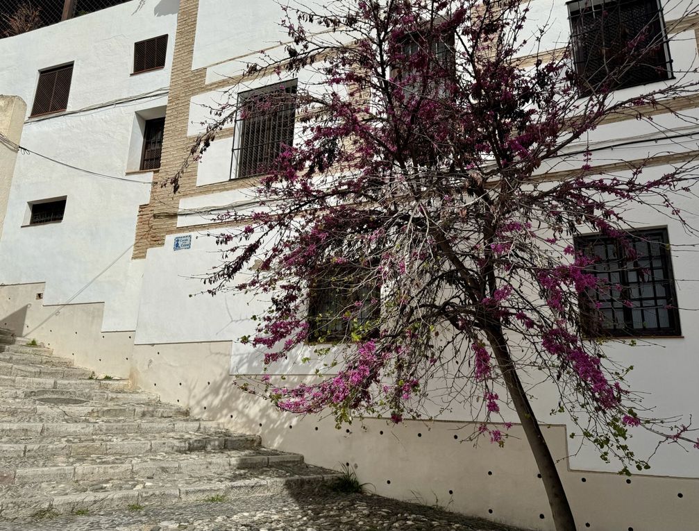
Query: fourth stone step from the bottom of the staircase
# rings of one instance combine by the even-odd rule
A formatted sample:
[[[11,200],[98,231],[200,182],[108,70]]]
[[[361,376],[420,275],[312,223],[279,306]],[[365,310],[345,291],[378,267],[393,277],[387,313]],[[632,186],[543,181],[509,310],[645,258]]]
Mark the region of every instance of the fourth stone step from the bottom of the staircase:
[[[79,419],[71,422],[43,422],[42,419],[19,417],[13,422],[0,423],[0,443],[2,437],[38,437],[63,435],[92,435],[99,433],[168,433],[168,432],[210,432],[222,429],[215,421],[183,419],[181,421],[134,421],[133,419]]]

